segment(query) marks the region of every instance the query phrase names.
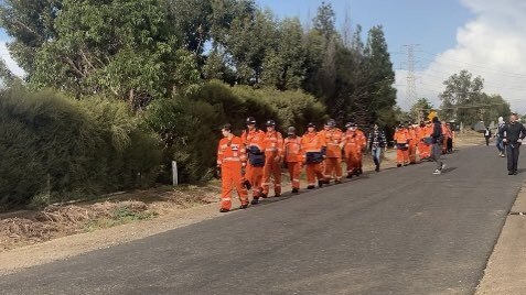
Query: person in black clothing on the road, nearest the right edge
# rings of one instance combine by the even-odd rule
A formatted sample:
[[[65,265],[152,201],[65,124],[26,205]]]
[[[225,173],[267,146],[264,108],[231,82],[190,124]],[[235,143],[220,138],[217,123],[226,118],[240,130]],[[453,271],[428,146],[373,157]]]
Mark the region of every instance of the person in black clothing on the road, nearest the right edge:
[[[517,122],[517,114],[509,116],[509,123],[502,128],[500,135],[506,146],[507,175],[517,175],[519,148],[526,136],[526,129]]]

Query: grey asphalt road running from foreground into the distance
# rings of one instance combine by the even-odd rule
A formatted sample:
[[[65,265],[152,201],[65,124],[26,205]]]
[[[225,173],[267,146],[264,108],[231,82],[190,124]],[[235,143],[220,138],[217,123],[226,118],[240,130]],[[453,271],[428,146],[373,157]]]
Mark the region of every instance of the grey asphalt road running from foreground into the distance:
[[[508,176],[494,146],[446,163],[442,175],[432,163],[372,173],[32,267],[0,277],[0,293],[473,294],[526,170]]]

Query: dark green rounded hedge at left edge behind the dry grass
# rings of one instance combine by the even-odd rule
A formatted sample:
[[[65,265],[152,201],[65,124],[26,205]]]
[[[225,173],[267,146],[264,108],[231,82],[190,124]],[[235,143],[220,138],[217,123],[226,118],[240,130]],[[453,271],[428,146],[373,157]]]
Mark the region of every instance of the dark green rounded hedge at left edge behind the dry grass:
[[[138,174],[149,184],[161,153],[124,103],[22,91],[0,94],[0,207],[9,208],[135,187]]]

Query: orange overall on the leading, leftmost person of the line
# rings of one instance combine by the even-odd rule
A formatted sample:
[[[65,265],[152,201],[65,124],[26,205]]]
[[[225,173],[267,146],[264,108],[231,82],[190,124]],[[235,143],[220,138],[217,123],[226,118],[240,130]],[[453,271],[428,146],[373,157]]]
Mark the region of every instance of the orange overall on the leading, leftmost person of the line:
[[[221,208],[232,207],[232,189],[236,188],[241,205],[248,205],[247,189],[243,185],[241,167],[247,157],[243,141],[238,136],[223,138],[217,148],[217,165],[221,167]]]

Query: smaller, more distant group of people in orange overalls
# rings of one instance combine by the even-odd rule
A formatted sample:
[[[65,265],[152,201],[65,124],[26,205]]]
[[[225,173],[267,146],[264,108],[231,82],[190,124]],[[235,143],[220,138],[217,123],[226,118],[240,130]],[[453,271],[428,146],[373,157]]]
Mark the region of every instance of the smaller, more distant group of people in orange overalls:
[[[431,121],[420,121],[420,124],[399,124],[395,131],[395,148],[397,166],[407,166],[417,163],[417,152],[419,160],[431,159],[431,134],[433,124]],[[451,153],[453,149],[454,132],[449,123],[442,122],[442,154]]]

